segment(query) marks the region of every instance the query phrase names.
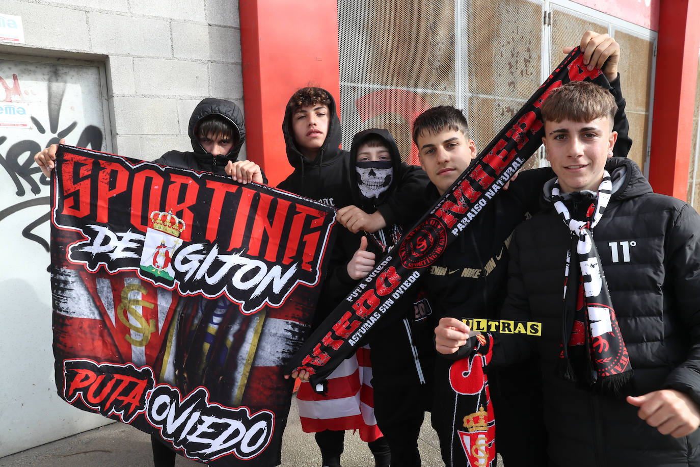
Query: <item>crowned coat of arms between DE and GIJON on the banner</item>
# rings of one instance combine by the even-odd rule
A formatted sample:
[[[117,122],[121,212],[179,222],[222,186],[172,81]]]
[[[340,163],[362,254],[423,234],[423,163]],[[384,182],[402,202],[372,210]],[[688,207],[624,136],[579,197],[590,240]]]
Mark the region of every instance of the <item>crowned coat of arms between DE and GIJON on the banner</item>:
[[[148,217],[148,230],[141,253],[139,275],[156,284],[172,286],[175,272],[170,265],[172,257],[182,244],[180,234],[187,226],[172,211],[153,211]]]

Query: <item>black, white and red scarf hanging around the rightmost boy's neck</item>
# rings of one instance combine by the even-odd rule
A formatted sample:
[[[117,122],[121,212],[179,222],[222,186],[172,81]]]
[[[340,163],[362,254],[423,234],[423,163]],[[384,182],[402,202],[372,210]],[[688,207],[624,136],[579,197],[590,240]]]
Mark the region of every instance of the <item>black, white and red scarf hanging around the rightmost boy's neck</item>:
[[[633,370],[593,241],[593,229],[603,217],[611,194],[610,174],[605,171],[584,220],[577,221],[571,218],[563,202],[558,179],[552,188],[554,208],[571,231],[572,240],[564,272],[559,375],[602,393],[620,396],[631,384]]]

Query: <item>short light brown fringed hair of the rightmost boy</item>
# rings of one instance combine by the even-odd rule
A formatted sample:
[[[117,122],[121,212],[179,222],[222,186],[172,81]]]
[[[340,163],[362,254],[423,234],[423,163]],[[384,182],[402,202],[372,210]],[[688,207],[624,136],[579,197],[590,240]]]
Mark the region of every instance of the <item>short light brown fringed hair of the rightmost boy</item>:
[[[590,81],[571,81],[552,91],[542,104],[545,122],[592,122],[598,118],[615,120],[617,104],[612,94]]]

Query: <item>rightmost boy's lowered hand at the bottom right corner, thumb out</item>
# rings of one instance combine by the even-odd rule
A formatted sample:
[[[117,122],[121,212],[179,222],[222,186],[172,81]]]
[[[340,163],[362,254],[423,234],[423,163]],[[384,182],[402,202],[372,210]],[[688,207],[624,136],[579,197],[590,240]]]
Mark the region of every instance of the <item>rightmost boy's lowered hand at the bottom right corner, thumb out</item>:
[[[662,435],[682,438],[700,425],[696,403],[686,393],[675,389],[661,389],[637,397],[627,396],[627,402],[639,407],[639,418],[655,426]]]

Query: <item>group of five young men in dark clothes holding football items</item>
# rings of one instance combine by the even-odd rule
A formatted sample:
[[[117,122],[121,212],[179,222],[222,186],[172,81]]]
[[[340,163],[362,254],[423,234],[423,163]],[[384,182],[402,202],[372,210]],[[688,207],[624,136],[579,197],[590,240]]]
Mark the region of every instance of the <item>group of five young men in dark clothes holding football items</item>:
[[[541,323],[539,337],[488,336],[483,362],[506,466],[700,466],[700,217],[652,193],[625,158],[617,43],[587,32],[580,46],[612,92],[569,83],[549,95],[542,142],[552,168],[521,173],[423,275],[416,303],[427,300],[431,314],[409,304],[386,317],[370,342],[372,373],[349,363],[325,395],[309,397],[332,396],[351,375],[373,388],[373,402],[363,403],[374,405],[381,433],[370,413],[353,419],[361,426],[314,426],[324,466],[340,465],[349,428],[367,428],[377,466],[420,466],[425,410],[444,463],[470,465],[461,434],[469,414],[449,378],[459,362],[481,358],[475,350],[487,342],[470,319]],[[461,111],[440,106],[413,123],[421,168],[401,162],[386,130],[360,132],[342,151],[335,102],[320,88],[291,97],[282,127],[294,170],[278,188],[336,207],[345,227],[330,252],[318,325],[477,150]],[[192,153],[156,162],[266,182],[258,165],[237,160],[245,130],[235,104],[204,99],[189,134]],[[55,146],[35,156],[46,176],[54,158]],[[156,457],[157,440],[153,447],[156,465],[173,465]]]

